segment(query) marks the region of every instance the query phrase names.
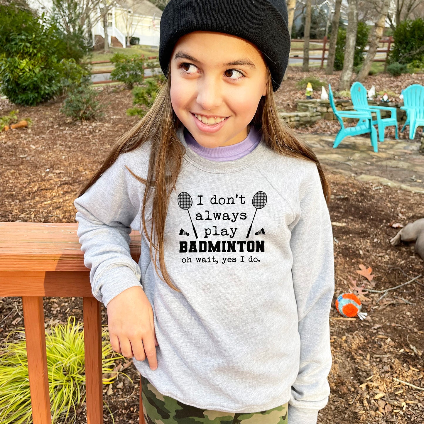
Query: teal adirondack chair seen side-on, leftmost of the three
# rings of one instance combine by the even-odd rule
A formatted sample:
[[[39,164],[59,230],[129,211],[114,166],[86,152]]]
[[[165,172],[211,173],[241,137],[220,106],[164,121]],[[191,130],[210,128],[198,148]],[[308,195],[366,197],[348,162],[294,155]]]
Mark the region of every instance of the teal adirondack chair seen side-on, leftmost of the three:
[[[374,148],[374,152],[378,152],[377,130],[374,128],[374,125],[372,124],[371,112],[337,110],[335,103],[334,103],[333,92],[331,90],[331,84],[328,84],[328,92],[329,92],[330,106],[333,109],[333,113],[334,113],[335,117],[338,119],[340,126],[341,126],[340,131],[336,135],[336,139],[334,141],[333,148],[335,149],[340,144],[340,142],[347,136],[354,136],[354,135],[370,133],[370,135],[371,135],[371,145]],[[343,118],[356,118],[356,119],[359,119],[359,120],[358,120],[358,123],[356,124],[356,126],[345,128],[344,123],[343,123]]]

